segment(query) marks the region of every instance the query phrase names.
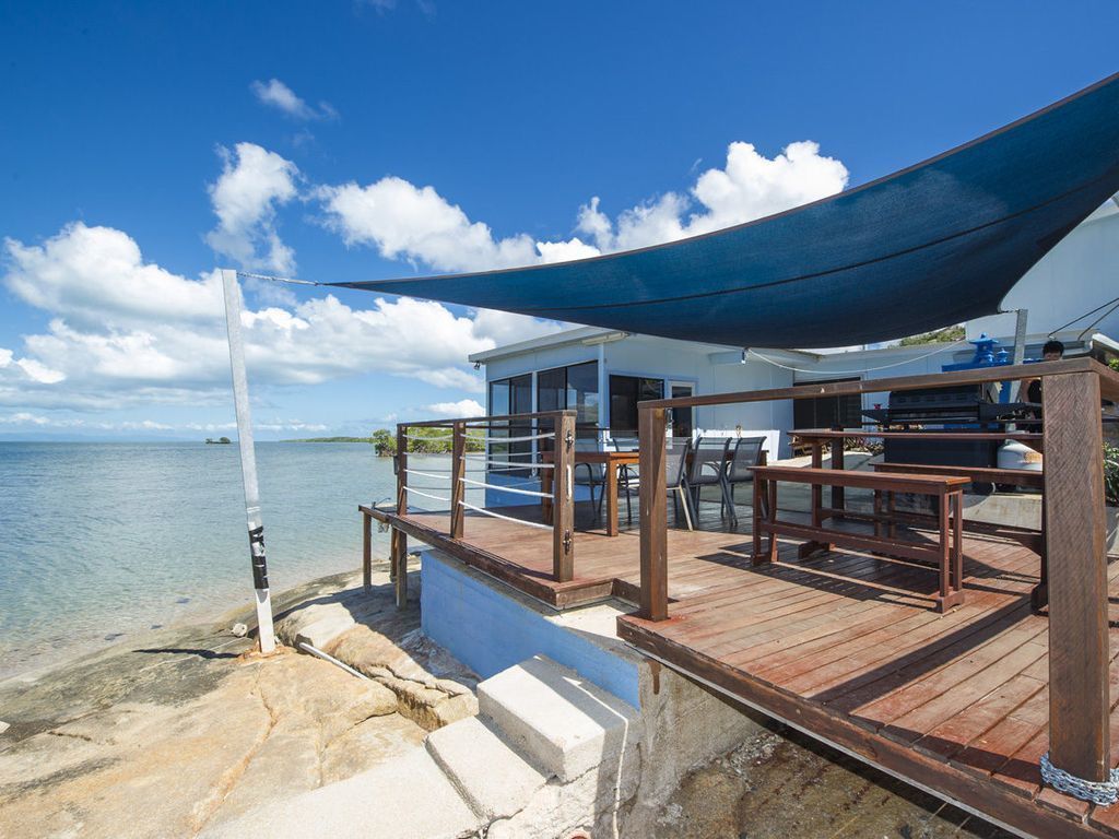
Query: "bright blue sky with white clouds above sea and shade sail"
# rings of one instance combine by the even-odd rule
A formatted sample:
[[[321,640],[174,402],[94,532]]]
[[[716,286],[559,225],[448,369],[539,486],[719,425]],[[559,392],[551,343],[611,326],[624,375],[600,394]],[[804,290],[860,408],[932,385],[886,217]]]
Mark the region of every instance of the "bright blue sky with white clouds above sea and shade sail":
[[[217,265],[376,279],[746,220],[1102,78],[1117,27],[1113,2],[0,2],[0,437],[226,428]],[[469,409],[467,352],[555,328],[246,305],[264,439]]]

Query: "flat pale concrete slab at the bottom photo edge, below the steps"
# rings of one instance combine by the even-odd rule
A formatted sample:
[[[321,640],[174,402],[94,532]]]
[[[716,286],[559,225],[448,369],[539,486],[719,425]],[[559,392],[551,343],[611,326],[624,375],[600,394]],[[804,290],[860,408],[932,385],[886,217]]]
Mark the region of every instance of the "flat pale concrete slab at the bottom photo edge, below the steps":
[[[368,772],[288,799],[204,831],[200,839],[457,839],[481,820],[424,748],[414,748]]]

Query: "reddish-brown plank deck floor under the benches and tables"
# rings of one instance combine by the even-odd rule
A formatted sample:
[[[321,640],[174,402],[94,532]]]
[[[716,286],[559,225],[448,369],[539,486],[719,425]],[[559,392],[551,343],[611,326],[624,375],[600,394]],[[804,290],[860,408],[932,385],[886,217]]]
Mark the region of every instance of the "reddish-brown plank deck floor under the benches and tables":
[[[451,540],[441,535],[445,515],[391,518],[411,536],[557,607],[608,596],[638,600],[636,529],[614,538],[577,532],[574,579],[556,583],[548,531],[468,516],[463,539]],[[1037,836],[1119,836],[1119,805],[1093,809],[1041,786],[1049,620],[1029,606],[1040,571],[1035,536],[967,534],[967,601],[938,614],[930,567],[852,550],[798,559],[793,540],[781,541],[778,564],[753,567],[749,516],[744,522],[740,532],[670,529],[669,620],[627,615],[619,634],[670,667],[991,820]],[[1109,593],[1115,737],[1119,562],[1109,565]]]

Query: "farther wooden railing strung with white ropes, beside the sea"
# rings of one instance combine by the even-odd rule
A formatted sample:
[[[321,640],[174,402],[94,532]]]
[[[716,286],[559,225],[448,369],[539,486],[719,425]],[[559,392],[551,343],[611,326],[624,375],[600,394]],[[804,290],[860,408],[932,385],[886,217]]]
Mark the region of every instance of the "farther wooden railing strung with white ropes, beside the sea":
[[[506,520],[520,521],[529,527],[546,527],[552,530],[552,566],[553,576],[557,582],[568,582],[574,577],[574,496],[573,496],[573,472],[574,472],[574,444],[575,444],[575,412],[574,411],[546,411],[532,414],[504,414],[482,417],[461,417],[457,420],[430,420],[424,422],[399,423],[396,426],[396,512],[398,516],[406,516],[408,511],[408,474],[415,471],[408,468],[410,443],[414,445],[417,441],[412,439],[408,431],[414,428],[446,428],[450,432],[451,443],[451,469],[449,472],[449,496],[439,498],[449,505],[449,521],[446,534],[451,539],[461,540],[466,529],[466,513],[473,510],[476,513],[493,516]],[[528,434],[518,434],[518,431],[527,430]],[[480,433],[479,433],[480,432]],[[505,437],[495,436],[495,432],[507,432]],[[445,437],[444,437],[445,439]],[[509,442],[526,442],[532,440],[551,441],[547,451],[551,458],[542,460],[539,455],[540,446],[534,445],[532,452],[511,452],[505,455],[504,460],[495,460],[489,454],[495,445],[508,445]],[[472,441],[481,442],[486,456],[482,463],[486,464],[487,474],[491,474],[490,468],[493,464],[502,464],[500,468],[508,470],[525,471],[551,470],[553,473],[551,493],[543,493],[534,490],[502,487],[499,483],[477,481],[467,477],[468,444]],[[411,452],[415,454],[415,452]],[[517,458],[524,454],[532,454],[528,460],[519,461]],[[549,502],[549,521],[529,522],[506,513],[488,510],[485,506],[471,505],[466,500],[467,487],[479,487],[497,492],[511,492],[529,497],[543,497],[542,501]],[[413,493],[433,498],[430,493],[413,489]],[[397,560],[406,556],[407,545],[405,536],[396,528],[393,529],[392,553],[393,567],[397,567]]]

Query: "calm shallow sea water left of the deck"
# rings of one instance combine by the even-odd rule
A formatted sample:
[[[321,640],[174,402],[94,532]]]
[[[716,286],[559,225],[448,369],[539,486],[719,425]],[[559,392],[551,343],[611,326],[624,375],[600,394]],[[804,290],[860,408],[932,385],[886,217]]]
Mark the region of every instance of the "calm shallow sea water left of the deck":
[[[256,460],[272,591],[360,568],[357,506],[394,494],[392,461],[365,443]],[[0,442],[0,678],[252,596],[235,444]]]

